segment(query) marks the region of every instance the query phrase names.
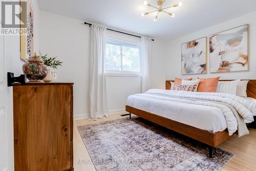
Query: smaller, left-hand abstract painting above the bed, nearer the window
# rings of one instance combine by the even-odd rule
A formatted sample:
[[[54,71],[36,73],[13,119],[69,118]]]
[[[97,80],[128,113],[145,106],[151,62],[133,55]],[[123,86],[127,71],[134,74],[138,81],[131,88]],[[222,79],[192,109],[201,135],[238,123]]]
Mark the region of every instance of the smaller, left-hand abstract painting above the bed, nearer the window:
[[[207,73],[207,37],[181,45],[182,75]]]

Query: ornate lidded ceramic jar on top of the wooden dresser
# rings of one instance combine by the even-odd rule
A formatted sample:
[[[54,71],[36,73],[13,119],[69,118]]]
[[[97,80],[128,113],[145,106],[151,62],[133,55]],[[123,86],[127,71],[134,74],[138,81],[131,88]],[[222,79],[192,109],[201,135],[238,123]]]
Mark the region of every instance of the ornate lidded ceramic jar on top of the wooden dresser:
[[[44,82],[44,78],[47,76],[48,67],[42,61],[40,56],[36,53],[29,57],[28,63],[23,65],[23,72],[26,74],[29,82]]]

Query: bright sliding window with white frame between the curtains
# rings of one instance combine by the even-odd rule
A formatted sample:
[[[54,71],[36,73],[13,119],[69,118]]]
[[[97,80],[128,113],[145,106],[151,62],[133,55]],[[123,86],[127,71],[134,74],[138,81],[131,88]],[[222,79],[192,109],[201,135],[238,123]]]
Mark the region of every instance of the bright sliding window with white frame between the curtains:
[[[106,41],[106,71],[140,73],[140,46],[117,40]]]

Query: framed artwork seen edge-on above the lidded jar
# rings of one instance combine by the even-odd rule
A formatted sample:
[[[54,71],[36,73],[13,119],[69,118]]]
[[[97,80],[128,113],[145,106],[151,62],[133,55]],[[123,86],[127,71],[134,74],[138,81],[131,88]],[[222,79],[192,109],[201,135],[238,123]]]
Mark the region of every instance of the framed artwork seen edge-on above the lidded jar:
[[[21,5],[20,7],[27,10],[26,16],[20,16],[26,18],[23,20],[26,21],[27,25],[25,34],[20,34],[20,59],[27,62],[28,57],[34,53],[34,9],[31,0],[27,0],[26,6]]]

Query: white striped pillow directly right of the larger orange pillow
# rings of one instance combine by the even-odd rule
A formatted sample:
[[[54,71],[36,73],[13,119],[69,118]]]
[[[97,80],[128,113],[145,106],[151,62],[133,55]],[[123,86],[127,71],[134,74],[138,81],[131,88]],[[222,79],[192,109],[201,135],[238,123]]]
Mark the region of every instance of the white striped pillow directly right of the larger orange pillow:
[[[237,95],[237,85],[240,80],[234,81],[219,81],[217,86],[217,93],[228,93]]]

